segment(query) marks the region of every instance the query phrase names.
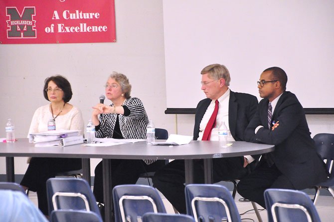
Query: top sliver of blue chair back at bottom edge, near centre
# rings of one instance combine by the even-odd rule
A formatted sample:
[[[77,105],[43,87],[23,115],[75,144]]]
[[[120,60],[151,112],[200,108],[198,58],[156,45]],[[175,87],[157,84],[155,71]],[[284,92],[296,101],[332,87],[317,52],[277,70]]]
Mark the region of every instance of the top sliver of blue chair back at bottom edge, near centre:
[[[142,217],[143,222],[195,222],[189,215],[146,213]]]

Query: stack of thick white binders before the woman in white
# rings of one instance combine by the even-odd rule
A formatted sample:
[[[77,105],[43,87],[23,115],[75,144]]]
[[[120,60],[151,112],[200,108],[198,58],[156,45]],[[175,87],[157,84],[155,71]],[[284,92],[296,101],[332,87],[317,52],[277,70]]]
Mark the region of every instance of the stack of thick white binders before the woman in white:
[[[35,147],[69,146],[83,143],[79,130],[51,130],[29,134],[29,142]]]

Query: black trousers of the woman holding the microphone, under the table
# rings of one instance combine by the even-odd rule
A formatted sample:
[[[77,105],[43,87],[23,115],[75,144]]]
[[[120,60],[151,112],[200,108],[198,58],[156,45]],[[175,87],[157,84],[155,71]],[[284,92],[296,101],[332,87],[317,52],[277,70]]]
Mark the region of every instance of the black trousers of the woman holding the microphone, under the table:
[[[155,172],[163,166],[165,166],[164,160],[147,165],[143,160],[112,159],[110,169],[111,189],[117,185],[136,184],[140,174],[145,172]],[[104,203],[102,161],[95,168],[93,193],[97,202]]]

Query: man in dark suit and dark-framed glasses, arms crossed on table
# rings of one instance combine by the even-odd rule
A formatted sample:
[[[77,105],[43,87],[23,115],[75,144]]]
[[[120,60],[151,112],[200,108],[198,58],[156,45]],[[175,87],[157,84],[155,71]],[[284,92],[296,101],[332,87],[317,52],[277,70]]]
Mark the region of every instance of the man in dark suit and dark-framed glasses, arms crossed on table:
[[[245,131],[246,141],[275,145],[275,151],[262,155],[256,169],[238,183],[238,193],[263,208],[267,188],[303,190],[327,179],[303,107],[286,91],[287,81],[279,67],[262,72],[258,88],[264,99]]]

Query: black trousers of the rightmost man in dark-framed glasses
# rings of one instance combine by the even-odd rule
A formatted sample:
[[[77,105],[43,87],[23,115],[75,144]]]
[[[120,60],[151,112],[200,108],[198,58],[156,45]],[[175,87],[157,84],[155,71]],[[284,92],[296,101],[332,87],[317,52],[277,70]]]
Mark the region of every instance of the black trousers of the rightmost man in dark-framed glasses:
[[[238,193],[266,208],[264,191],[268,188],[293,189],[291,181],[277,169],[275,164],[268,167],[266,161],[260,161],[259,166],[248,176],[242,178],[237,186]]]

